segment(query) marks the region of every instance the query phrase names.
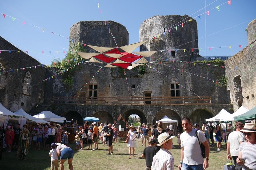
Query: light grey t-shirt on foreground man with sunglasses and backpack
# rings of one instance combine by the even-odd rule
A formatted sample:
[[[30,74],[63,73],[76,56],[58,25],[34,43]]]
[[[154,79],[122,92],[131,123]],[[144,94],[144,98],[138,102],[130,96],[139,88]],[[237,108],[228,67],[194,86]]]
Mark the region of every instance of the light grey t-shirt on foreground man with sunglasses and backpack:
[[[201,143],[206,141],[206,138],[200,130],[197,131],[198,138],[195,136],[195,131],[192,129],[191,132],[183,132],[181,134],[181,147],[184,148],[183,163],[187,165],[200,165],[203,164],[203,157],[201,155],[201,148],[198,142]]]

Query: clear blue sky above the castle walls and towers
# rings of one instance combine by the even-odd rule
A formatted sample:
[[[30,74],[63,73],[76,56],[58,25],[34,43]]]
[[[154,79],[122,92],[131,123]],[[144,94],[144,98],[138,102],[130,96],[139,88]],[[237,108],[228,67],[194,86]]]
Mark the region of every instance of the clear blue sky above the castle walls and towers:
[[[69,46],[66,37],[70,27],[79,21],[118,22],[129,32],[131,44],[139,41],[139,27],[144,20],[155,15],[187,14],[197,21],[201,56],[232,56],[248,45],[245,29],[256,18],[255,6],[255,0],[231,0],[231,5],[227,0],[8,0],[0,1],[0,36],[20,50],[29,51],[40,63],[50,64],[54,58],[65,57]]]

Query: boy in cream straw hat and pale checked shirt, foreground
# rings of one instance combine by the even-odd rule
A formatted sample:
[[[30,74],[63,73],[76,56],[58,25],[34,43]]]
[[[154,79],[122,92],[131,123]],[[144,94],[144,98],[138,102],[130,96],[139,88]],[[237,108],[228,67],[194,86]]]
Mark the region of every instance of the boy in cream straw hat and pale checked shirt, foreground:
[[[174,158],[169,151],[172,149],[173,138],[168,133],[161,133],[157,140],[157,146],[161,146],[160,150],[153,157],[151,170],[174,170]]]

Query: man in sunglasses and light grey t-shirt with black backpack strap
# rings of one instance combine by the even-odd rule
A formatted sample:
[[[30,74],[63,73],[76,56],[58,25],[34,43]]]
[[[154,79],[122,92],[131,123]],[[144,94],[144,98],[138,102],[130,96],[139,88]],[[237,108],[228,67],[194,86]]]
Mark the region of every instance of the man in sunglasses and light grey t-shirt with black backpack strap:
[[[196,170],[208,168],[210,147],[204,134],[200,130],[192,128],[190,119],[188,117],[183,117],[181,122],[182,128],[185,132],[183,132],[180,136],[181,162],[178,165],[178,169]],[[197,133],[198,138],[195,133]],[[198,140],[205,146],[205,160],[203,160],[201,147]]]

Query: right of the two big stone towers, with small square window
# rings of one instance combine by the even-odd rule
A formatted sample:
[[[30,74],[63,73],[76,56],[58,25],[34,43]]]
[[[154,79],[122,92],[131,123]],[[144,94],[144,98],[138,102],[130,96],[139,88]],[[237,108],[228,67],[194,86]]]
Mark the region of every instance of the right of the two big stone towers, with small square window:
[[[149,40],[140,51],[163,50],[154,54],[151,61],[159,57],[183,61],[198,57],[197,21],[187,15],[153,16],[141,24],[139,38],[140,41]]]

